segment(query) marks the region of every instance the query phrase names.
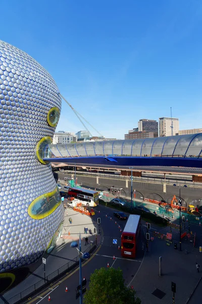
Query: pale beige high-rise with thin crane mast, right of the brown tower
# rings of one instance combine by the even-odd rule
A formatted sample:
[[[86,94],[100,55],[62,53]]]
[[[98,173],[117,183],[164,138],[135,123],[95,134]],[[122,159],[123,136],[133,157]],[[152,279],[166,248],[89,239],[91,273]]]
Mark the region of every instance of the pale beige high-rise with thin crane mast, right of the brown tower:
[[[161,117],[159,119],[159,136],[172,136],[179,132],[179,119]]]

